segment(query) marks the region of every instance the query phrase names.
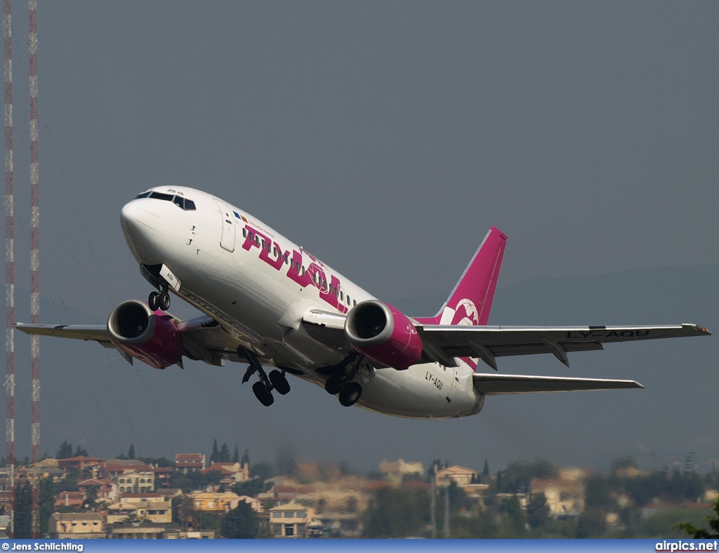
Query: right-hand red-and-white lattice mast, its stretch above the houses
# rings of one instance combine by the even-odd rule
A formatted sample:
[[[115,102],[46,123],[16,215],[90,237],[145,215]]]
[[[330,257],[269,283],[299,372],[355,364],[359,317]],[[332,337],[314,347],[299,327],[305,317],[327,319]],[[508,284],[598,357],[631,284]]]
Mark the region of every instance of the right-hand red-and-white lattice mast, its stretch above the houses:
[[[37,195],[37,0],[28,0],[30,60],[30,320],[40,324],[40,205]],[[40,458],[40,336],[30,337],[32,463]]]

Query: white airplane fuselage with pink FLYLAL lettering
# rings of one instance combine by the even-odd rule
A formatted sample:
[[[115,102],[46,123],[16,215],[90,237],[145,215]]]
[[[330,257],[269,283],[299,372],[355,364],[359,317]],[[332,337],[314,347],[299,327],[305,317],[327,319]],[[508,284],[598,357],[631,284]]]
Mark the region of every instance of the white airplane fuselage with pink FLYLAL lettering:
[[[137,198],[122,208],[122,228],[140,264],[164,264],[178,278],[175,293],[217,320],[238,348],[254,351],[263,365],[279,366],[324,385],[318,368],[342,363],[347,351],[308,335],[308,310],[347,313],[371,294],[323,264],[247,212],[186,187],[152,189],[191,200]],[[406,371],[362,363],[357,405],[413,418],[462,417],[479,412],[472,368],[438,363]]]

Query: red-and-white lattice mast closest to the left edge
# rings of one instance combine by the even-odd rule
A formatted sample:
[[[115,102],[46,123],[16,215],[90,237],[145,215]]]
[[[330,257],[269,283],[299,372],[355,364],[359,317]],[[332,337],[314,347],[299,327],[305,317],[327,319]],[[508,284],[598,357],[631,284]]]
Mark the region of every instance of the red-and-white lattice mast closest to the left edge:
[[[12,17],[10,0],[3,0],[3,60],[5,88],[5,442],[10,488],[10,531],[14,534],[15,491],[15,268],[12,190]]]

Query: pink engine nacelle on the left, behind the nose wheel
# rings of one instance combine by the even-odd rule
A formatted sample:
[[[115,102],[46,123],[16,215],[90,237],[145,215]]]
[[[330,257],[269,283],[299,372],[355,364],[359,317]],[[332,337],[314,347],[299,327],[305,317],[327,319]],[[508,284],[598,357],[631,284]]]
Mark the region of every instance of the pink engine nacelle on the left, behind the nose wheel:
[[[182,359],[182,336],[170,315],[152,312],[137,299],[122,302],[107,320],[112,343],[132,357],[155,368],[166,368]]]

